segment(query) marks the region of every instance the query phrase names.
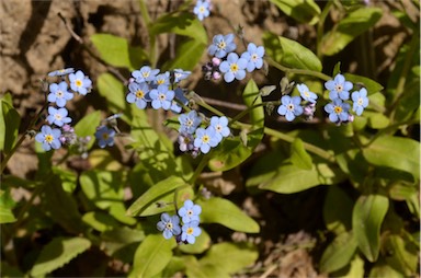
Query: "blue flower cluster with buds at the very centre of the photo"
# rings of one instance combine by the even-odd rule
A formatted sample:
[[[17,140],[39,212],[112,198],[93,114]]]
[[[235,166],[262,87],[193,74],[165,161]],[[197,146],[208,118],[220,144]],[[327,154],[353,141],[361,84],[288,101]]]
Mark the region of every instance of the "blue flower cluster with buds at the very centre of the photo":
[[[179,144],[183,152],[191,151],[193,157],[201,152],[208,153],[210,148],[215,148],[218,143],[230,135],[228,127],[228,118],[225,116],[210,117],[209,125],[206,128],[200,127],[202,117],[191,111],[179,116]]]

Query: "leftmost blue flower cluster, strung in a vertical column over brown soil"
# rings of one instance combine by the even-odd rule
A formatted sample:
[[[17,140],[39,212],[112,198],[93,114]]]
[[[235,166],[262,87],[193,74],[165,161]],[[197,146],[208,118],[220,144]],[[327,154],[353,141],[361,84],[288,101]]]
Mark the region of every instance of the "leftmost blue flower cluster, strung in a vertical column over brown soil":
[[[52,71],[48,77],[59,78],[58,83],[49,84],[49,94],[47,95],[47,101],[56,104],[57,107],[48,107],[46,120],[49,125],[43,125],[41,132],[35,136],[35,140],[41,142],[46,151],[57,150],[65,143],[73,144],[78,141],[79,138],[77,138],[73,128],[69,125],[72,119],[68,116],[69,112],[65,106],[67,101],[73,99],[73,93],[86,95],[92,88],[92,81],[80,70],[75,73],[73,68]],[[69,91],[69,85],[71,91]],[[86,144],[89,139],[80,138],[79,141]]]

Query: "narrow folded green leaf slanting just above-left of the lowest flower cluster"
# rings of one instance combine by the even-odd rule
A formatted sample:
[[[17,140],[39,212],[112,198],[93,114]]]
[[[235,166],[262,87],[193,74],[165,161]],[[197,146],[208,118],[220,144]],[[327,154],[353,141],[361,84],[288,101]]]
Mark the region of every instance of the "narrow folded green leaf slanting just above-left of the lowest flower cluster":
[[[147,207],[159,201],[162,196],[175,190],[178,187],[185,185],[184,179],[178,176],[170,176],[152,187],[150,187],[145,194],[143,194],[132,206],[127,209],[128,216],[143,216],[143,212]]]

